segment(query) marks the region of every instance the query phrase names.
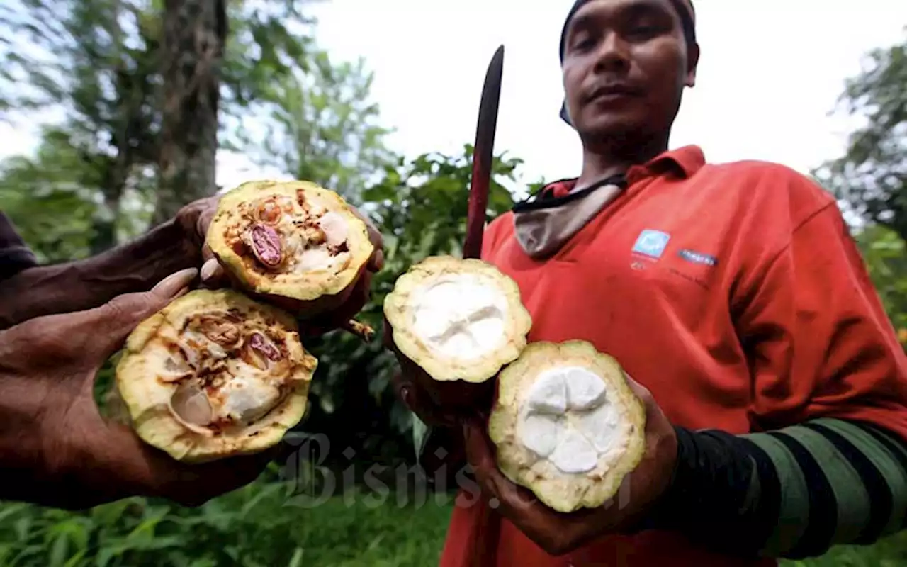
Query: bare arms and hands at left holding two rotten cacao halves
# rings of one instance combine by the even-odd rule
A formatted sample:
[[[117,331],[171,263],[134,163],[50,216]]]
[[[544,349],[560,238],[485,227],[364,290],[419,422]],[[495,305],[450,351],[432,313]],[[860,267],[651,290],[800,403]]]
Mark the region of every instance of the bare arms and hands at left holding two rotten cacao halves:
[[[226,281],[204,245],[217,201],[195,201],[124,246],[54,266],[38,266],[0,212],[0,499],[81,509],[141,495],[196,506],[249,484],[278,456],[180,464],[105,420],[93,399],[98,369],[141,320],[196,287],[200,272],[206,286]],[[374,272],[381,238],[369,232]],[[352,317],[369,280],[307,330]]]

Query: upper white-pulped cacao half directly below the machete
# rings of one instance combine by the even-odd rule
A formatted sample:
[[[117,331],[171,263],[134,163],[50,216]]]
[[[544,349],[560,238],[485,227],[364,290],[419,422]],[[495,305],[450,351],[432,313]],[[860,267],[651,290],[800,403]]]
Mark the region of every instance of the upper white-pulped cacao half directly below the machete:
[[[406,376],[451,411],[488,409],[493,380],[532,327],[516,282],[480,259],[414,264],[384,303],[386,342]]]

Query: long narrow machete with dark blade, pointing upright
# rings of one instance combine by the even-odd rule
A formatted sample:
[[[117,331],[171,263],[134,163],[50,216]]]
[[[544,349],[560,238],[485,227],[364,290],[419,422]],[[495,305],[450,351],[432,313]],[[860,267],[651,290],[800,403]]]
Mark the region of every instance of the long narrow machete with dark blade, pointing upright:
[[[466,212],[466,240],[463,258],[482,255],[485,230],[485,211],[488,210],[488,191],[492,182],[494,131],[498,125],[498,103],[501,100],[501,75],[504,66],[504,46],[498,47],[488,64],[482,101],[479,103],[479,122],[475,127],[473,150],[473,179],[469,187],[469,209]]]

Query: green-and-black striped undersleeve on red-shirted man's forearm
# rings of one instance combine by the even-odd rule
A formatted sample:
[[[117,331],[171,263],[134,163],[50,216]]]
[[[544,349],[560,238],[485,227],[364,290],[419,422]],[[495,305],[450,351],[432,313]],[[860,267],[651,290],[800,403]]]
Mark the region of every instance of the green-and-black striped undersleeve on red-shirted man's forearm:
[[[748,435],[677,431],[677,470],[647,527],[785,559],[904,527],[907,445],[877,426],[821,418]]]

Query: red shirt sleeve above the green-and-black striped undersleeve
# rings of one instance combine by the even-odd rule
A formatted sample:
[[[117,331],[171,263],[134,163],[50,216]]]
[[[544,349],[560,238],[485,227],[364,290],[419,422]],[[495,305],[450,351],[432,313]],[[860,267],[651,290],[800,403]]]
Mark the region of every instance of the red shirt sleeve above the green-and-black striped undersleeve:
[[[754,289],[737,320],[759,428],[834,417],[907,439],[907,359],[834,201],[795,227]]]

